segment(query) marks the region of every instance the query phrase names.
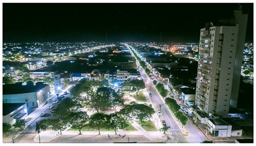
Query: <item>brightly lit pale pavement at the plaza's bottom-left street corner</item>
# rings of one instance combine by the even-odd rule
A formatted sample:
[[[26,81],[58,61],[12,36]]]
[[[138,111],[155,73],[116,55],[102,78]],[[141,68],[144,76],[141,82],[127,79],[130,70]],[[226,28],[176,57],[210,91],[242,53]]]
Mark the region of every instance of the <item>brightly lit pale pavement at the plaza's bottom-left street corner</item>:
[[[41,143],[42,142],[50,142],[59,136],[60,135],[58,135],[57,132],[40,133],[40,141],[41,141]],[[38,134],[33,138],[33,141],[39,143]]]

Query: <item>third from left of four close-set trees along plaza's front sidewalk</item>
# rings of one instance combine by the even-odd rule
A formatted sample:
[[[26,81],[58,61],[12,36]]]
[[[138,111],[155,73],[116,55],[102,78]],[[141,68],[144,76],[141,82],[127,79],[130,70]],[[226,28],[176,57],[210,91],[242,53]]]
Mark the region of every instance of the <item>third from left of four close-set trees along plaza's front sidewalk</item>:
[[[92,114],[89,118],[89,124],[95,127],[99,131],[100,135],[100,128],[107,128],[107,123],[110,121],[110,116],[103,114],[103,113],[95,113]]]

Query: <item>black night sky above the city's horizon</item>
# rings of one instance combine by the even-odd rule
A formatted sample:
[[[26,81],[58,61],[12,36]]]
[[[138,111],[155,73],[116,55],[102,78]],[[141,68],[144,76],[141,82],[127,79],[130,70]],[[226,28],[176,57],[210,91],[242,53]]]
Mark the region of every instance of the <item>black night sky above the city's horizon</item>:
[[[246,42],[253,41],[253,4]],[[3,42],[160,41],[198,43],[206,22],[232,18],[238,4],[3,4]]]

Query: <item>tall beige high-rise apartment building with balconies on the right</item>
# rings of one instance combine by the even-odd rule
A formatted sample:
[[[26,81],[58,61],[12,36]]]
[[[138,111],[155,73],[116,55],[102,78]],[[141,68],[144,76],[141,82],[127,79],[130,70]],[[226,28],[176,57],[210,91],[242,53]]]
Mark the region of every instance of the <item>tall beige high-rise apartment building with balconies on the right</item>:
[[[247,15],[207,23],[200,31],[196,105],[204,112],[226,116],[237,106]]]

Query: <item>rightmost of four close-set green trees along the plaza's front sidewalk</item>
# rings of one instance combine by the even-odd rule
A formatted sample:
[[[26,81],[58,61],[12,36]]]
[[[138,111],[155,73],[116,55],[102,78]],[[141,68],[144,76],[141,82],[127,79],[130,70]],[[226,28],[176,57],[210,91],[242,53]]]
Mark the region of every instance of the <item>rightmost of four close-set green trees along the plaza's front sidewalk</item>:
[[[129,125],[122,115],[110,114],[109,126],[107,129],[114,129],[114,133],[117,134],[117,129],[125,129]]]

